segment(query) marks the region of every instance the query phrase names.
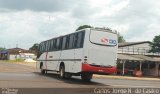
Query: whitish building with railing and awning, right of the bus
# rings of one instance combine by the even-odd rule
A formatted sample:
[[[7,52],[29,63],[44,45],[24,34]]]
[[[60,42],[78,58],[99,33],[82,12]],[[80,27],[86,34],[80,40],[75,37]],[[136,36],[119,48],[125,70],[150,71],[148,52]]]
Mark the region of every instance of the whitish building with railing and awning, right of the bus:
[[[149,41],[120,43],[118,63],[125,70],[134,71],[138,68],[144,76],[160,76],[160,54],[150,53]]]

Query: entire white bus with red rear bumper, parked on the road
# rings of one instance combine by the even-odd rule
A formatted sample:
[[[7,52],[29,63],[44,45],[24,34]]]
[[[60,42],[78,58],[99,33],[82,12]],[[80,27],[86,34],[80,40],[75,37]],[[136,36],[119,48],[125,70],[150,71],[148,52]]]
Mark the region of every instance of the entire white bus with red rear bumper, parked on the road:
[[[116,72],[117,45],[117,33],[86,28],[41,42],[37,66],[42,74],[56,71],[60,78],[90,81],[93,74]]]

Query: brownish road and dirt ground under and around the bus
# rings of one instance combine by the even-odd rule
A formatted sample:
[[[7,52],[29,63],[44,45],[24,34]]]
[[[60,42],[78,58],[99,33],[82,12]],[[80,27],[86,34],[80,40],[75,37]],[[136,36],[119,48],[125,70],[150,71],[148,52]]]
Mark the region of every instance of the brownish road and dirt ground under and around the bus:
[[[160,81],[132,80],[135,77],[94,75],[91,82],[83,82],[80,76],[59,79],[58,74],[48,72],[42,75],[35,71],[36,63],[9,63],[0,61],[0,87],[2,88],[158,88]],[[83,91],[83,90],[82,90]],[[80,92],[83,93],[83,92]],[[31,93],[26,93],[31,94]],[[39,93],[33,93],[39,94]],[[45,93],[43,93],[45,94]],[[48,94],[48,93],[47,93]],[[52,93],[53,94],[53,93]],[[76,92],[74,92],[76,94]],[[83,93],[84,94],[84,93]],[[88,93],[87,93],[88,94]]]

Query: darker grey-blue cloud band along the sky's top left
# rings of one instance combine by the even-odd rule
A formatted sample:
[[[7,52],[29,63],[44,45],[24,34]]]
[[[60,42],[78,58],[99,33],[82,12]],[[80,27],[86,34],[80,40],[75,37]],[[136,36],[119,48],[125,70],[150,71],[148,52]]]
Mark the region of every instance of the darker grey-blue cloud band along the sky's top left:
[[[23,11],[68,11],[75,0],[0,0],[0,8]]]

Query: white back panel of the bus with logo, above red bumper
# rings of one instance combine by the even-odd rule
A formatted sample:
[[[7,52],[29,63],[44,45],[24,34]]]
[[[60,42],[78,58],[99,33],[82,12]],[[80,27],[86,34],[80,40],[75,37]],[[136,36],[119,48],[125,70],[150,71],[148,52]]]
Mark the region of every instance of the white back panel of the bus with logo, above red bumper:
[[[89,64],[115,66],[117,59],[117,35],[104,31],[90,31],[88,47]]]

